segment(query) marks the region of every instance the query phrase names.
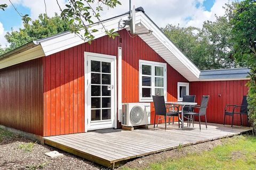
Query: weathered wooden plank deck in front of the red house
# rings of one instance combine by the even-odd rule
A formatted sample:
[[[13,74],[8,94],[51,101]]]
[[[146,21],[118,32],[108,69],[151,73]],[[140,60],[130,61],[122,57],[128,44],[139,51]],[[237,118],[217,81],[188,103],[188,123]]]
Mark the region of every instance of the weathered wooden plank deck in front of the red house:
[[[186,123],[185,123],[186,125]],[[241,128],[208,123],[208,128],[199,125],[195,128],[178,129],[178,125],[169,125],[164,131],[163,125],[148,130],[98,130],[87,133],[76,133],[44,137],[45,144],[65,150],[106,167],[117,167],[125,161],[157,152],[188,146],[210,140],[238,135],[250,131]]]

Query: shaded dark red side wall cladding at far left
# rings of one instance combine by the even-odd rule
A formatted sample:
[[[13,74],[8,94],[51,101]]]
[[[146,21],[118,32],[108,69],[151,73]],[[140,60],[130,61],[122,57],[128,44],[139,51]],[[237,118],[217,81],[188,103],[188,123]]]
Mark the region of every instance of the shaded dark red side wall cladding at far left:
[[[42,58],[0,70],[0,124],[43,135]]]

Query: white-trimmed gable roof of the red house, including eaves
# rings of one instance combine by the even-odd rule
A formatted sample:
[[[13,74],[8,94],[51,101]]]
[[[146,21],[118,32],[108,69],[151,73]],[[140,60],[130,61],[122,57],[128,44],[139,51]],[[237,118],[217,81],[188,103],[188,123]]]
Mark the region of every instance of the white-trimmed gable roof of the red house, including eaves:
[[[121,28],[119,28],[119,22],[121,20],[127,20],[128,16],[129,12],[126,12],[122,15],[103,20],[101,23],[106,29],[115,29],[115,31],[118,31],[121,30]],[[148,17],[148,15],[146,15],[142,7],[136,9],[135,19],[135,24],[137,25],[135,31],[137,33],[146,32],[148,30],[153,31],[150,34],[139,35],[139,37],[188,81],[200,81],[201,78],[204,80],[206,75],[208,75],[208,77],[206,77],[207,80],[214,80],[213,74],[217,72],[211,72],[213,74],[210,74],[210,72],[201,72],[197,66],[165,36],[163,31]],[[91,24],[90,26],[92,29],[99,30],[93,34],[95,39],[105,36],[105,30],[99,22]],[[129,27],[126,26],[122,29],[129,29]],[[0,69],[28,60],[33,60],[38,57],[49,56],[83,43],[85,43],[83,39],[69,31],[37,41],[31,41],[26,45],[0,56]],[[244,74],[241,74],[240,76],[240,79],[245,79],[245,77],[243,77]],[[227,78],[232,79],[230,77],[225,77],[224,74],[222,77],[218,77],[218,79],[221,80]]]

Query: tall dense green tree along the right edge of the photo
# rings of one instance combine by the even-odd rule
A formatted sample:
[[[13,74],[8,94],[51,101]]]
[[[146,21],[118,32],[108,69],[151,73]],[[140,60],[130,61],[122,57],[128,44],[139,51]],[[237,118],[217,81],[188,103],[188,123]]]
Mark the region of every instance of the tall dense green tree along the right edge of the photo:
[[[256,1],[245,0],[228,6],[234,57],[240,65],[250,69],[251,80],[247,83],[249,118],[256,132]]]

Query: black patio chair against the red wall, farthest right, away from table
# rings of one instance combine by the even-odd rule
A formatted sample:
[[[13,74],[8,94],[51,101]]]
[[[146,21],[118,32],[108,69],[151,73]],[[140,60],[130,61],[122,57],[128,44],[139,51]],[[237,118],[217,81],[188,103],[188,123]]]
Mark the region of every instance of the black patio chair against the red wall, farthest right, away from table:
[[[224,112],[224,121],[223,121],[223,126],[225,126],[225,121],[226,121],[226,116],[232,116],[232,123],[231,123],[231,128],[233,128],[233,121],[234,121],[234,114],[239,114],[240,115],[240,121],[241,121],[241,126],[243,125],[242,123],[242,115],[247,116],[247,126],[249,126],[249,120],[248,120],[248,108],[247,108],[247,96],[243,96],[242,104],[241,105],[226,105],[225,107],[225,112]],[[232,111],[227,111],[228,107],[233,107]],[[235,112],[236,108],[240,108],[239,112]]]

